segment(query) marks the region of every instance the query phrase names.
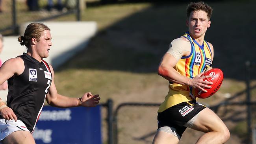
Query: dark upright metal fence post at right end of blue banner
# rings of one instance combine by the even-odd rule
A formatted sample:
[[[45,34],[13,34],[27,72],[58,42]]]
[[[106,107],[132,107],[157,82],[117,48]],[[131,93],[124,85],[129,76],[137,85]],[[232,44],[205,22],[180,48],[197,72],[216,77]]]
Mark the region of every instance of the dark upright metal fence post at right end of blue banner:
[[[108,99],[108,144],[113,144],[113,100]]]

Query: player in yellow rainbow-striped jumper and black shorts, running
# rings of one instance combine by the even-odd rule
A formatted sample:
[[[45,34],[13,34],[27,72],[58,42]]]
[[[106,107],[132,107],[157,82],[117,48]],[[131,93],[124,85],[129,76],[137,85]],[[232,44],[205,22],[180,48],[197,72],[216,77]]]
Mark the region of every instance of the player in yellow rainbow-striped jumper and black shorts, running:
[[[211,69],[213,46],[204,40],[210,27],[212,8],[204,2],[187,7],[188,31],[174,39],[160,62],[158,74],[169,81],[169,92],[158,109],[158,130],[153,144],[178,144],[187,127],[202,131],[196,144],[223,144],[230,133],[223,121],[206,106],[197,103],[195,89],[211,88],[202,76]]]

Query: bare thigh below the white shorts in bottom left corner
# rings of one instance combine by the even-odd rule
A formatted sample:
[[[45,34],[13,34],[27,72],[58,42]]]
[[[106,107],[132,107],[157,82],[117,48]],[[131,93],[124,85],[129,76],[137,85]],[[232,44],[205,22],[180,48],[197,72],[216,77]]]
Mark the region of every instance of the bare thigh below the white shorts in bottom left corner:
[[[15,131],[8,135],[3,144],[35,144],[35,140],[29,131]]]

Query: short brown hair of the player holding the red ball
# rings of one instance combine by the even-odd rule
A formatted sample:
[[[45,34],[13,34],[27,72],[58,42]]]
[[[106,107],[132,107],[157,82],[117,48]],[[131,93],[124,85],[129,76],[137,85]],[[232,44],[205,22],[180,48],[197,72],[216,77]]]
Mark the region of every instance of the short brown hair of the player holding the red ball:
[[[187,18],[189,18],[190,13],[192,11],[205,11],[207,13],[207,17],[210,20],[212,8],[208,6],[208,4],[204,4],[204,2],[191,2],[189,5],[187,5]]]

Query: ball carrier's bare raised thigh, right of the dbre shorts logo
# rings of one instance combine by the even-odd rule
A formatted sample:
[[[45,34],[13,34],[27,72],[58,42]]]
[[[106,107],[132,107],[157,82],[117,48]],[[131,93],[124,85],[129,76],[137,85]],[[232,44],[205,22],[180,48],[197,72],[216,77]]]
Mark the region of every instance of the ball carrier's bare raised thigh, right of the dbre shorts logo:
[[[215,114],[211,109],[206,107],[200,113],[198,113],[197,118],[194,121],[192,129],[202,131],[202,132],[227,132],[228,128],[224,124],[224,122]]]

